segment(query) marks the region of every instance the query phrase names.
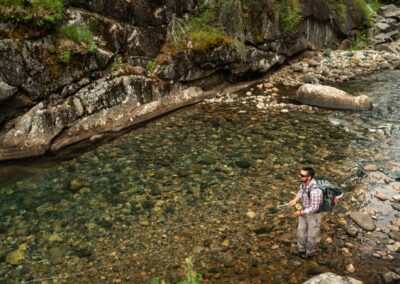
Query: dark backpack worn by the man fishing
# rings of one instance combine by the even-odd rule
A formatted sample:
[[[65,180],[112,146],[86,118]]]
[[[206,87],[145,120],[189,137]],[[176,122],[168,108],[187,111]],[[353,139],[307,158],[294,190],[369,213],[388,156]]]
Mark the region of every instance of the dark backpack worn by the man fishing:
[[[316,213],[331,212],[333,207],[337,204],[338,199],[343,196],[343,192],[327,180],[315,179],[315,181],[317,184],[314,188],[319,188],[322,191],[322,204]],[[310,191],[307,191],[309,199]]]

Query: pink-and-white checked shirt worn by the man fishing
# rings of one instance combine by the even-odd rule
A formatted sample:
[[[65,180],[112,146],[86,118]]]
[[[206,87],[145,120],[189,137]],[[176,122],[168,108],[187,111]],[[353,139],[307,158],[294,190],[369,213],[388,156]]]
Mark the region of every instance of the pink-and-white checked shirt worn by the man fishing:
[[[308,198],[308,191],[310,192],[310,198]],[[314,179],[311,180],[308,186],[301,183],[296,196],[300,197],[304,207],[304,214],[316,213],[322,204],[322,190],[317,187]]]

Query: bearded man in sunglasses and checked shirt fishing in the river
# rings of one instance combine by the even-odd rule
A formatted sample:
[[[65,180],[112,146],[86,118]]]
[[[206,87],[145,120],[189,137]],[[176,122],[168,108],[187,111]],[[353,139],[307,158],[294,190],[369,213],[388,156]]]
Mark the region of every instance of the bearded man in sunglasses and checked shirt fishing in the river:
[[[297,227],[297,250],[295,255],[308,259],[315,255],[317,236],[320,229],[323,212],[319,212],[322,204],[322,191],[316,187],[314,169],[304,167],[300,170],[300,189],[296,197],[289,202],[289,206],[301,201],[303,208],[293,213],[292,217],[299,217]]]

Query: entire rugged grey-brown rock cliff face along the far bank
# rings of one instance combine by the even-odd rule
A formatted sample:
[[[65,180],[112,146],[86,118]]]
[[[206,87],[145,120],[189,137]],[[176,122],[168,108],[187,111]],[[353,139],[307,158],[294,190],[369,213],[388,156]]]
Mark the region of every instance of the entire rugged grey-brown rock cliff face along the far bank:
[[[199,87],[335,46],[365,20],[358,7],[343,18],[326,1],[304,0],[302,20],[288,33],[274,1],[260,3],[247,14],[240,52],[229,41],[166,48],[171,20],[195,14],[195,0],[70,0],[55,25],[10,20],[0,10],[0,160],[57,150],[194,103],[204,96]],[[93,38],[74,41],[65,36],[71,26],[89,27]]]

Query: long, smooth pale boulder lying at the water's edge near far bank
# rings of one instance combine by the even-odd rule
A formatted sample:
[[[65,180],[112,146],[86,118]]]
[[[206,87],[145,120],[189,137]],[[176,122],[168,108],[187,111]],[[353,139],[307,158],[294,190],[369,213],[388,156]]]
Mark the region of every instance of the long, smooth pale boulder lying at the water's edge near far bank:
[[[296,93],[296,99],[302,104],[349,110],[369,110],[372,100],[365,96],[352,96],[342,90],[324,86],[305,84]]]

